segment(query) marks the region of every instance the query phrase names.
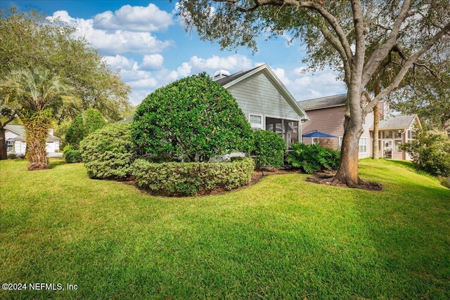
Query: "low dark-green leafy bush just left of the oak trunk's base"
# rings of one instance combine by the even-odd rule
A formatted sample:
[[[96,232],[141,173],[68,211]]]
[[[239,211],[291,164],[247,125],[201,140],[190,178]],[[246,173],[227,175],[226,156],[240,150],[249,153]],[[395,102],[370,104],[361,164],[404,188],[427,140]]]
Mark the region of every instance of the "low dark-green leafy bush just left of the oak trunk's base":
[[[287,161],[307,174],[314,171],[335,170],[339,167],[340,150],[303,143],[294,143],[292,147],[293,151],[289,152]]]

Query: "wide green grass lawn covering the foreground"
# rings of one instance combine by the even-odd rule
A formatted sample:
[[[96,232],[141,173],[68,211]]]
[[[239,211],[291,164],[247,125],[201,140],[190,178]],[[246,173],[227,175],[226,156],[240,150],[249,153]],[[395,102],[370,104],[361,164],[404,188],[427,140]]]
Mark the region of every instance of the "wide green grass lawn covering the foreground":
[[[27,287],[0,299],[450,299],[450,190],[404,162],[360,162],[378,192],[287,174],[187,198],[26,167],[0,162],[0,281]]]

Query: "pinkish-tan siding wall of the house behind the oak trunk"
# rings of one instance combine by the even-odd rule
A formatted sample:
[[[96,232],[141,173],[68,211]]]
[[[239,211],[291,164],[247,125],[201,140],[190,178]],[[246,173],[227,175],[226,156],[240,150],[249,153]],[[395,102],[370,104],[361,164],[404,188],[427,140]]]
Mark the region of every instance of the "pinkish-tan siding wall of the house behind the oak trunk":
[[[302,103],[300,102],[300,105]],[[344,136],[345,106],[328,107],[320,110],[308,110],[309,121],[302,126],[302,134],[311,131],[320,131],[328,133],[338,138],[330,138],[333,148],[340,147],[340,141]],[[360,152],[359,158],[371,157],[372,155],[372,138],[370,128],[373,126],[373,114],[368,114],[366,124],[363,125],[364,133],[361,138],[366,138],[366,152]],[[309,145],[312,138],[303,138],[303,143]]]

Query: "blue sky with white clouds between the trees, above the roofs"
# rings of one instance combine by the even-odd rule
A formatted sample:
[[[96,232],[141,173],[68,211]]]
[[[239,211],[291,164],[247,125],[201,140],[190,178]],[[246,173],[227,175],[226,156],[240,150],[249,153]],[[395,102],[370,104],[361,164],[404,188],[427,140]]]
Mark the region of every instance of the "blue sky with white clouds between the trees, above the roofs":
[[[81,1],[2,0],[1,8],[30,8],[60,18],[86,37],[112,70],[120,70],[131,86],[130,100],[141,103],[148,93],[191,74],[228,70],[233,74],[262,63],[268,64],[297,100],[345,93],[336,74],[323,70],[302,74],[304,46],[288,34],[266,41],[258,37],[258,51],[248,48],[221,51],[217,43],[200,41],[195,32],[186,32],[176,15],[176,1]]]

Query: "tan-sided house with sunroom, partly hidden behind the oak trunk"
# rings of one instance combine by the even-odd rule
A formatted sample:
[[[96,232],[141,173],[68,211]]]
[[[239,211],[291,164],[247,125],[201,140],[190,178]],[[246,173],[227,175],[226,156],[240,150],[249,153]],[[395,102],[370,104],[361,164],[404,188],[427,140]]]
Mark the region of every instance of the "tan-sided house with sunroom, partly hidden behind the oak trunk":
[[[347,94],[300,101],[309,115],[309,121],[303,125],[303,132],[319,131],[335,138],[303,138],[305,144],[321,143],[330,148],[339,148],[344,136],[345,101]],[[380,124],[378,126],[380,157],[387,159],[411,159],[408,153],[401,151],[399,145],[410,142],[415,135],[416,126],[420,129],[417,115],[389,116],[387,103],[380,103]],[[363,123],[364,133],[359,138],[359,158],[372,156],[373,112]]]

